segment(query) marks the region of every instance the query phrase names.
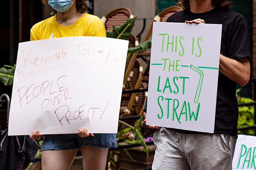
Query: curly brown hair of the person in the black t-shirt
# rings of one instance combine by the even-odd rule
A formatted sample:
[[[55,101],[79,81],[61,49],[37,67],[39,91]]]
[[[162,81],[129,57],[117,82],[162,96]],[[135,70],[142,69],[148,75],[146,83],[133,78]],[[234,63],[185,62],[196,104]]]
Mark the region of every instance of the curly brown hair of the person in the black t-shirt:
[[[177,5],[180,5],[184,10],[189,9],[189,0],[179,0]],[[212,6],[214,8],[225,8],[230,9],[232,7],[231,0],[212,0]]]

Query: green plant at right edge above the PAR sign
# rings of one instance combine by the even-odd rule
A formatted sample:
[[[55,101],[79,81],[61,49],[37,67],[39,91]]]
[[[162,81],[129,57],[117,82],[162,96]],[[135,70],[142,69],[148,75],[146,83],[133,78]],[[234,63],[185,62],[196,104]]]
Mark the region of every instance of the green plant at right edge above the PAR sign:
[[[237,90],[237,94],[240,89]],[[252,103],[254,102],[251,98],[241,97],[237,95],[238,103]],[[238,107],[239,117],[238,117],[238,127],[248,127],[254,125],[254,106],[240,106]],[[254,135],[254,129],[239,130],[239,134]]]

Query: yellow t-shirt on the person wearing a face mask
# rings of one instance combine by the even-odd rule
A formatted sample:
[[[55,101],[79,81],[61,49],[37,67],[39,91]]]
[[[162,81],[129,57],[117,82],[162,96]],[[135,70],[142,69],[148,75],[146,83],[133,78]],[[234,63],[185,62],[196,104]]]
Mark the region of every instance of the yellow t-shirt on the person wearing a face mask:
[[[30,30],[30,41],[70,36],[106,37],[106,30],[99,17],[88,13],[68,26],[60,25],[55,15],[35,24]]]

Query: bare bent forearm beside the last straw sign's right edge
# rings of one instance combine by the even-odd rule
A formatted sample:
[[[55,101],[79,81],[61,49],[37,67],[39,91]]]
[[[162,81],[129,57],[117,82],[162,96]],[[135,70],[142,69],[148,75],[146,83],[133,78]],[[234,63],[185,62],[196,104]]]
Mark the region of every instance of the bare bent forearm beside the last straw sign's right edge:
[[[250,60],[248,57],[243,57],[237,61],[220,54],[219,71],[240,86],[244,86],[250,79]]]

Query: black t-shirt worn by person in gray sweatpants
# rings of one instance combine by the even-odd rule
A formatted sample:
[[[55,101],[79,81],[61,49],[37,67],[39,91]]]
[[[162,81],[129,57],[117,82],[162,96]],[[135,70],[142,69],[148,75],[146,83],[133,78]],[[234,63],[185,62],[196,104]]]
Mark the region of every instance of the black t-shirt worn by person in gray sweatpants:
[[[201,18],[205,23],[222,24],[220,53],[223,56],[238,60],[249,57],[251,60],[250,37],[248,25],[242,15],[227,9],[213,9],[205,13],[191,13],[182,10],[171,15],[166,22],[185,23],[185,20]],[[215,114],[215,134],[229,134],[237,137],[238,101],[235,96],[237,83],[219,72],[217,103]],[[201,134],[181,129],[178,132]]]

